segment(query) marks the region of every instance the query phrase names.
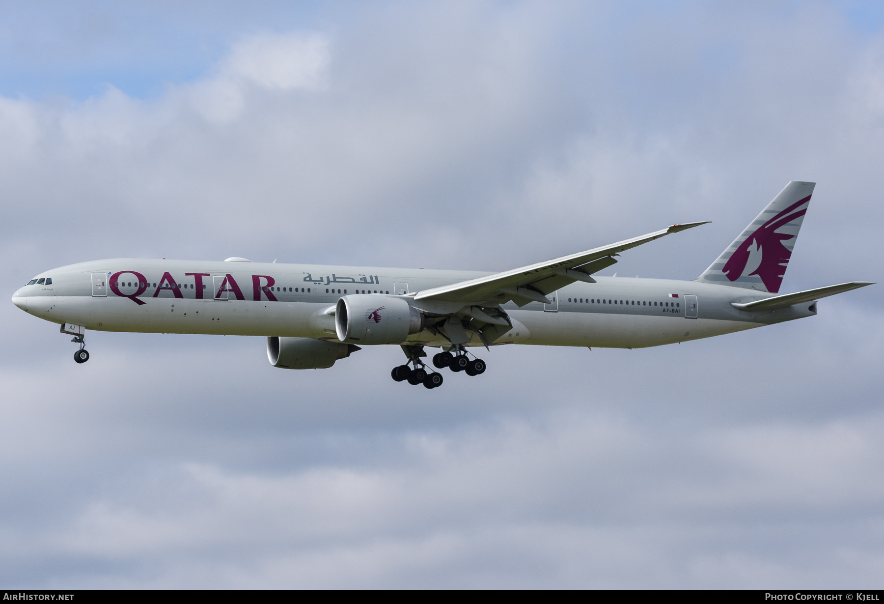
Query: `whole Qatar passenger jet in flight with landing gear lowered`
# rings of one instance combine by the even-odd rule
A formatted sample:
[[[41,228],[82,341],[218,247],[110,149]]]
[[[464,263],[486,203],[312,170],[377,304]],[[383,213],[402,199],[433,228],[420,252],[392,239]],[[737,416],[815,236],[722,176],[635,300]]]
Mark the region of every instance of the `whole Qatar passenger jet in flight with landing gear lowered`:
[[[642,348],[708,338],[817,313],[817,300],[872,285],[853,281],[780,294],[814,183],[792,181],[692,281],[592,275],[655,233],[512,271],[425,271],[365,266],[118,258],[71,264],[31,279],[12,296],[21,310],[61,325],[88,361],[87,329],[217,333],[267,338],[274,367],[331,367],[364,346],[401,346],[396,381],[434,388],[432,357],[475,376],[470,348],[501,344]],[[470,358],[472,357],[472,358]]]

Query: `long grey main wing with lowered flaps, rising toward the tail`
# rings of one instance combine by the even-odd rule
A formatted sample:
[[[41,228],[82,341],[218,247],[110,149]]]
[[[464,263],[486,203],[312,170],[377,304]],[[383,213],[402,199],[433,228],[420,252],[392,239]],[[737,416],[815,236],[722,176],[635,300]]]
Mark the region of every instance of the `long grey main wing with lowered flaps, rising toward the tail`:
[[[489,302],[498,304],[513,300],[519,306],[529,302],[551,301],[549,294],[575,281],[595,283],[590,276],[594,272],[615,264],[613,256],[618,253],[640,246],[648,241],[659,239],[669,233],[678,233],[694,226],[705,225],[705,222],[690,222],[683,225],[669,226],[654,233],[634,237],[625,241],[617,241],[601,248],[587,249],[570,256],[561,256],[553,260],[522,266],[512,271],[498,272],[478,279],[469,279],[442,287],[425,289],[415,294],[415,300],[433,299],[446,302]]]

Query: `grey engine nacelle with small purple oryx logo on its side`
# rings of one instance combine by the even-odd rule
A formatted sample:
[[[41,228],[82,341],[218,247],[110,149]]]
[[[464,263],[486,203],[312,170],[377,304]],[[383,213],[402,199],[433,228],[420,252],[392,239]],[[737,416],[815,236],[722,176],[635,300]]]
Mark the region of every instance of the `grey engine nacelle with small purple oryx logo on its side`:
[[[424,325],[420,310],[393,295],[345,295],[334,316],[338,340],[356,344],[397,344]]]

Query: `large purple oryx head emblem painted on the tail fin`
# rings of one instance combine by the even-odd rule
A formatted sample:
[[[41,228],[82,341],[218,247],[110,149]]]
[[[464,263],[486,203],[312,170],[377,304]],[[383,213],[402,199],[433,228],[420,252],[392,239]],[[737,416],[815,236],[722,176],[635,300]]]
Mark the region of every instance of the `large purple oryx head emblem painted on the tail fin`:
[[[792,256],[792,252],[782,242],[789,241],[795,235],[776,233],[776,230],[792,220],[804,216],[807,208],[804,210],[796,210],[796,208],[810,200],[811,195],[807,195],[801,201],[793,203],[746,237],[721,269],[728,275],[728,279],[735,281],[740,277],[758,275],[768,292],[773,292],[773,294],[779,292],[782,276],[786,272],[786,264],[789,264],[789,258]],[[749,264],[750,259],[754,259],[758,264],[753,262],[749,269],[750,272],[747,273],[746,265]]]

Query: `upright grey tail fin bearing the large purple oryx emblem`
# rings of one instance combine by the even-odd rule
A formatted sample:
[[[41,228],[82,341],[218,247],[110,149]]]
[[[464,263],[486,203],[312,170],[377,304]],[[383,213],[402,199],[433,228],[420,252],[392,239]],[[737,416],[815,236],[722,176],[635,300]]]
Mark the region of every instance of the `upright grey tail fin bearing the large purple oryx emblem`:
[[[778,293],[814,186],[792,180],[697,280]]]

